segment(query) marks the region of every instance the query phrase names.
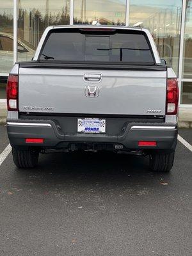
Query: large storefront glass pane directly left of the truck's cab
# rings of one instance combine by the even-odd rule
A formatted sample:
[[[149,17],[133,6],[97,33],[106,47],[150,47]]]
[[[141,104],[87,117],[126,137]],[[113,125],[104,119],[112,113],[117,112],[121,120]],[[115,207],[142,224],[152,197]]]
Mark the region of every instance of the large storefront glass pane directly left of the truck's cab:
[[[20,0],[18,12],[18,61],[31,60],[45,28],[69,24],[70,0]],[[35,6],[35,7],[33,7]]]

